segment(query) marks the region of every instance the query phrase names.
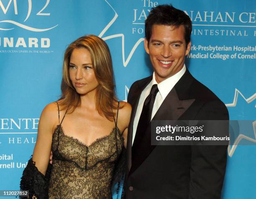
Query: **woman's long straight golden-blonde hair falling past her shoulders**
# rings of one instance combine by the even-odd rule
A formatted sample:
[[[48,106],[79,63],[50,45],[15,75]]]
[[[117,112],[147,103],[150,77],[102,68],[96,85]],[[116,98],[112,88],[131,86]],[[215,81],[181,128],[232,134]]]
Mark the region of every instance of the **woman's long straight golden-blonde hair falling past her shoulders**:
[[[115,96],[115,81],[112,67],[112,59],[108,45],[104,40],[95,35],[85,35],[72,42],[66,49],[63,63],[63,76],[61,81],[61,98],[59,105],[61,110],[69,108],[69,113],[80,106],[80,96],[76,92],[69,77],[69,61],[74,49],[86,48],[92,58],[93,70],[99,83],[96,90],[96,109],[100,115],[104,115],[113,121],[113,109],[118,109]]]

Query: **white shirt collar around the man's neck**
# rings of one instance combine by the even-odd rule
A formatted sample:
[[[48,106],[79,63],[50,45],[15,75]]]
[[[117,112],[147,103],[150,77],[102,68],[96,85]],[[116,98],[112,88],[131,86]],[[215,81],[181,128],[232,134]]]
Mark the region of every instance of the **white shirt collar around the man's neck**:
[[[155,78],[155,72],[153,73],[153,79],[151,81],[151,87],[154,84],[157,84],[157,87],[159,89],[159,93],[163,99],[166,98],[168,93],[172,90],[172,88],[175,86],[175,84],[179,81],[179,79],[184,75],[186,72],[186,66],[185,64],[183,65],[182,69],[176,73],[174,76],[171,76],[167,78],[166,80],[157,83],[156,78]]]

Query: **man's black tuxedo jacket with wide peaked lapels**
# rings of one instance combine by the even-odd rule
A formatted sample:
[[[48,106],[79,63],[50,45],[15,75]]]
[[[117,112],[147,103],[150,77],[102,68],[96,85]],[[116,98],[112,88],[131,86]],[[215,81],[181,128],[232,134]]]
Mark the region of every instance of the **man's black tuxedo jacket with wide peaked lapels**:
[[[126,199],[219,199],[227,146],[152,146],[150,125],[138,148],[132,147],[133,121],[143,89],[152,76],[130,88],[132,106],[125,174]],[[164,99],[153,120],[228,120],[225,104],[188,70]],[[139,133],[139,132],[138,132]],[[228,132],[227,134],[228,135]],[[223,135],[225,136],[225,135]]]

